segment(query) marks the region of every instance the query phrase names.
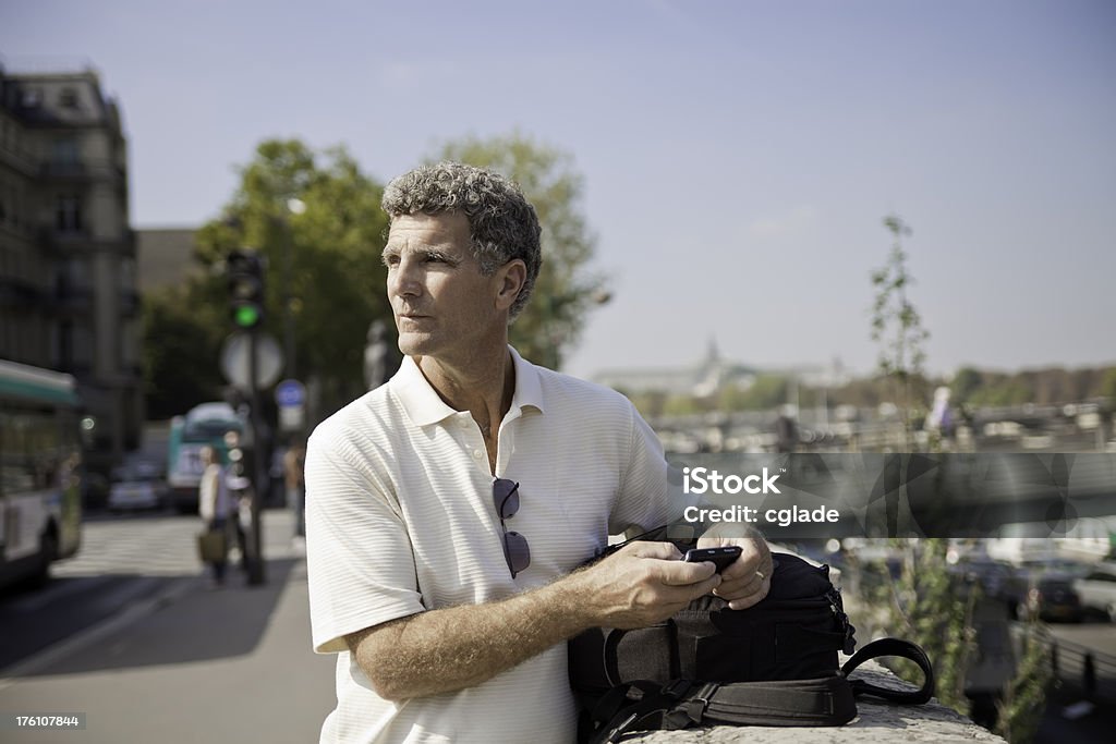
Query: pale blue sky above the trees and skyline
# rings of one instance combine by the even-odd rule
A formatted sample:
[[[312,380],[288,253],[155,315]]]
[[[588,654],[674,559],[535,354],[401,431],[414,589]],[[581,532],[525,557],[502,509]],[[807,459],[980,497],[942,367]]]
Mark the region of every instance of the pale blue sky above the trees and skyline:
[[[1113,39],[1105,0],[0,4],[10,70],[119,99],[140,228],[215,216],[272,136],[382,181],[466,134],[568,151],[614,289],[586,376],[711,338],[868,371],[889,212],[931,370],[1116,364]]]

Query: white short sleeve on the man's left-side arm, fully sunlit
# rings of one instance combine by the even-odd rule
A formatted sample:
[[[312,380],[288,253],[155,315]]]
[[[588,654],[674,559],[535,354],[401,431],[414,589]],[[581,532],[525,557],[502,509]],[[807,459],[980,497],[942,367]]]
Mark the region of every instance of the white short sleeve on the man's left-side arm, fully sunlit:
[[[369,462],[338,428],[319,427],[306,457],[310,626],[319,654],[347,651],[345,636],[425,609],[385,463]]]

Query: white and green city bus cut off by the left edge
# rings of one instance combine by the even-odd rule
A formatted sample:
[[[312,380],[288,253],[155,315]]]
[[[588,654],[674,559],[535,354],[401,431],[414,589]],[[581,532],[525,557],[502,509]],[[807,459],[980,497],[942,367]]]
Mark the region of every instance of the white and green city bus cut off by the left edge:
[[[42,583],[77,552],[80,426],[70,375],[0,359],[0,587]]]

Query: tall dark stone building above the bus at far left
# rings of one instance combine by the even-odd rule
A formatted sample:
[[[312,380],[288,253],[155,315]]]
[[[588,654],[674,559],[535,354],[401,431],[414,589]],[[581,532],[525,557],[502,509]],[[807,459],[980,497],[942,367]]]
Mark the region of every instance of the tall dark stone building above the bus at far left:
[[[0,68],[0,358],[77,378],[93,468],[140,443],[140,335],[117,103],[93,70]]]

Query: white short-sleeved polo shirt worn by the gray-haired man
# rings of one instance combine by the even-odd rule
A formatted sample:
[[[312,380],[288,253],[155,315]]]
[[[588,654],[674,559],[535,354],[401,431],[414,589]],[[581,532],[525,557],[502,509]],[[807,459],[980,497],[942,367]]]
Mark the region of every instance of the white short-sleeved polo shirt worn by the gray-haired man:
[[[510,347],[509,347],[510,349]],[[496,475],[469,412],[449,407],[405,358],[384,386],[315,431],[306,460],[314,648],[337,653],[337,708],[323,742],[561,742],[576,712],[559,644],[458,693],[377,696],[344,637],[388,620],[504,599],[605,548],[609,533],[676,519],[651,427],[618,393],[525,361],[500,424]],[[519,482],[507,520],[530,545],[514,579],[492,503]]]

